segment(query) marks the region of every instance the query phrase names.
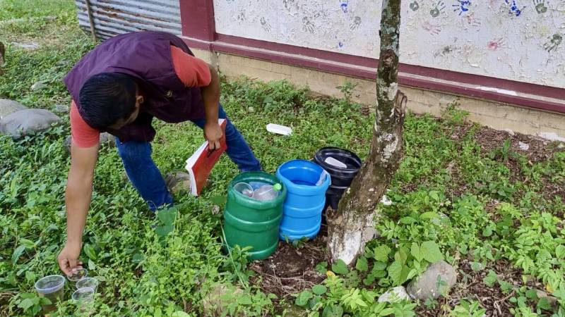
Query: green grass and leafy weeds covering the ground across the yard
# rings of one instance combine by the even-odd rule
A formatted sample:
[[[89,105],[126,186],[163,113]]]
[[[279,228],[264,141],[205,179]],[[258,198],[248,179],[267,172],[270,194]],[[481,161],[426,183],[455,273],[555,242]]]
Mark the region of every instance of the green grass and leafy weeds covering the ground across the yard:
[[[69,103],[61,78],[94,47],[74,15],[73,1],[0,0],[0,41],[8,44],[0,96],[37,108]],[[22,42],[40,47],[27,51],[18,47]],[[39,80],[48,88],[30,91]],[[222,104],[270,173],[289,159],[311,159],[328,145],[367,156],[374,115],[347,99],[310,97],[307,89],[287,82],[241,79],[222,80]],[[471,263],[473,270],[484,273],[486,278],[479,282],[507,296],[514,316],[565,316],[565,204],[547,195],[548,185],[565,186],[565,152],[534,163],[504,144],[485,152],[477,142],[476,125],[453,137],[463,128],[462,118],[455,107],[443,120],[408,115],[405,157],[388,192],[393,204],[378,207],[381,238],[369,243],[355,268],[321,265],[320,271],[329,268],[337,277],[299,294],[295,304],[326,311],[323,316],[330,311],[340,316],[340,310],[351,316],[369,310],[414,316],[422,307],[480,316],[472,294],[451,304],[448,299],[418,307],[408,302],[372,304],[371,299],[441,257],[462,270],[464,263]],[[290,125],[295,132],[290,137],[272,135],[264,128],[267,123]],[[182,169],[203,142],[201,130],[189,123],[155,126],[157,166],[164,174]],[[59,127],[34,137],[0,137],[0,316],[37,313],[33,283],[59,272],[55,259],[66,237],[69,156],[62,143],[67,135],[64,118]],[[509,162],[516,163],[518,172]],[[117,151],[102,147],[81,254],[90,275],[101,280],[96,316],[172,316],[184,309],[189,316],[201,316],[204,294],[220,282],[245,289],[230,309],[248,316],[276,314],[272,298],[249,285],[241,251],[235,250],[232,258],[222,253],[221,218],[212,211],[235,175],[236,166],[224,157],[201,198],[175,197],[179,204],[174,231],[163,238],[153,228],[172,220],[166,213],[157,218],[148,211],[124,179]],[[419,250],[429,252],[422,257]],[[503,272],[489,273],[501,261],[529,282],[509,285],[506,275],[495,274]],[[533,296],[533,287],[554,292],[558,306],[547,307]],[[71,288],[67,285],[67,297]],[[56,313],[72,314],[69,302],[61,303]]]

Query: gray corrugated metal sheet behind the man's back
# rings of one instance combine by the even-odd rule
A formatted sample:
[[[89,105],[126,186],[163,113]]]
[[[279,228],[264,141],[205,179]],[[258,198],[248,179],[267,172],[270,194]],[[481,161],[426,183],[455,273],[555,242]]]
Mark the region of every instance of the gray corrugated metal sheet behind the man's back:
[[[90,33],[85,0],[75,0],[78,23]],[[107,39],[152,30],[182,35],[179,0],[90,0],[96,36]]]

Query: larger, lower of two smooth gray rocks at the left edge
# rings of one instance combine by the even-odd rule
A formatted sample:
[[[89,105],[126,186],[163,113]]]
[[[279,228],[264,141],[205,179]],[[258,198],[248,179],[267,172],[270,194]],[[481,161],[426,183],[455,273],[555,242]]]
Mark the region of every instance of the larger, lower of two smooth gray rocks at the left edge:
[[[51,128],[61,118],[45,109],[23,109],[0,119],[0,132],[13,138]]]

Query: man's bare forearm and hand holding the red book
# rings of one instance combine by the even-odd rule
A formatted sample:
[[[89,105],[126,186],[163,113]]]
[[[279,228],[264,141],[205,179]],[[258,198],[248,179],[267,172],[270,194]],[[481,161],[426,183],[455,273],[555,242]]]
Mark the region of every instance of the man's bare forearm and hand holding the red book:
[[[222,138],[222,128],[218,124],[218,110],[220,107],[220,76],[216,69],[208,65],[210,68],[210,85],[202,87],[202,99],[204,103],[204,136],[208,140],[210,146],[208,149],[220,149],[220,139]]]

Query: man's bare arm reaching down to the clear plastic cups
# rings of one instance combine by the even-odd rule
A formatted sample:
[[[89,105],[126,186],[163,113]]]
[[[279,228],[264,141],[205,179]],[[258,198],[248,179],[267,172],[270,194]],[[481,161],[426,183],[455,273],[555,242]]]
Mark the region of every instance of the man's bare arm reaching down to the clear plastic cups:
[[[81,254],[83,230],[93,193],[93,178],[98,144],[81,148],[71,145],[71,169],[65,191],[67,241],[59,254],[61,271],[70,275],[73,269],[81,268],[78,256]]]

